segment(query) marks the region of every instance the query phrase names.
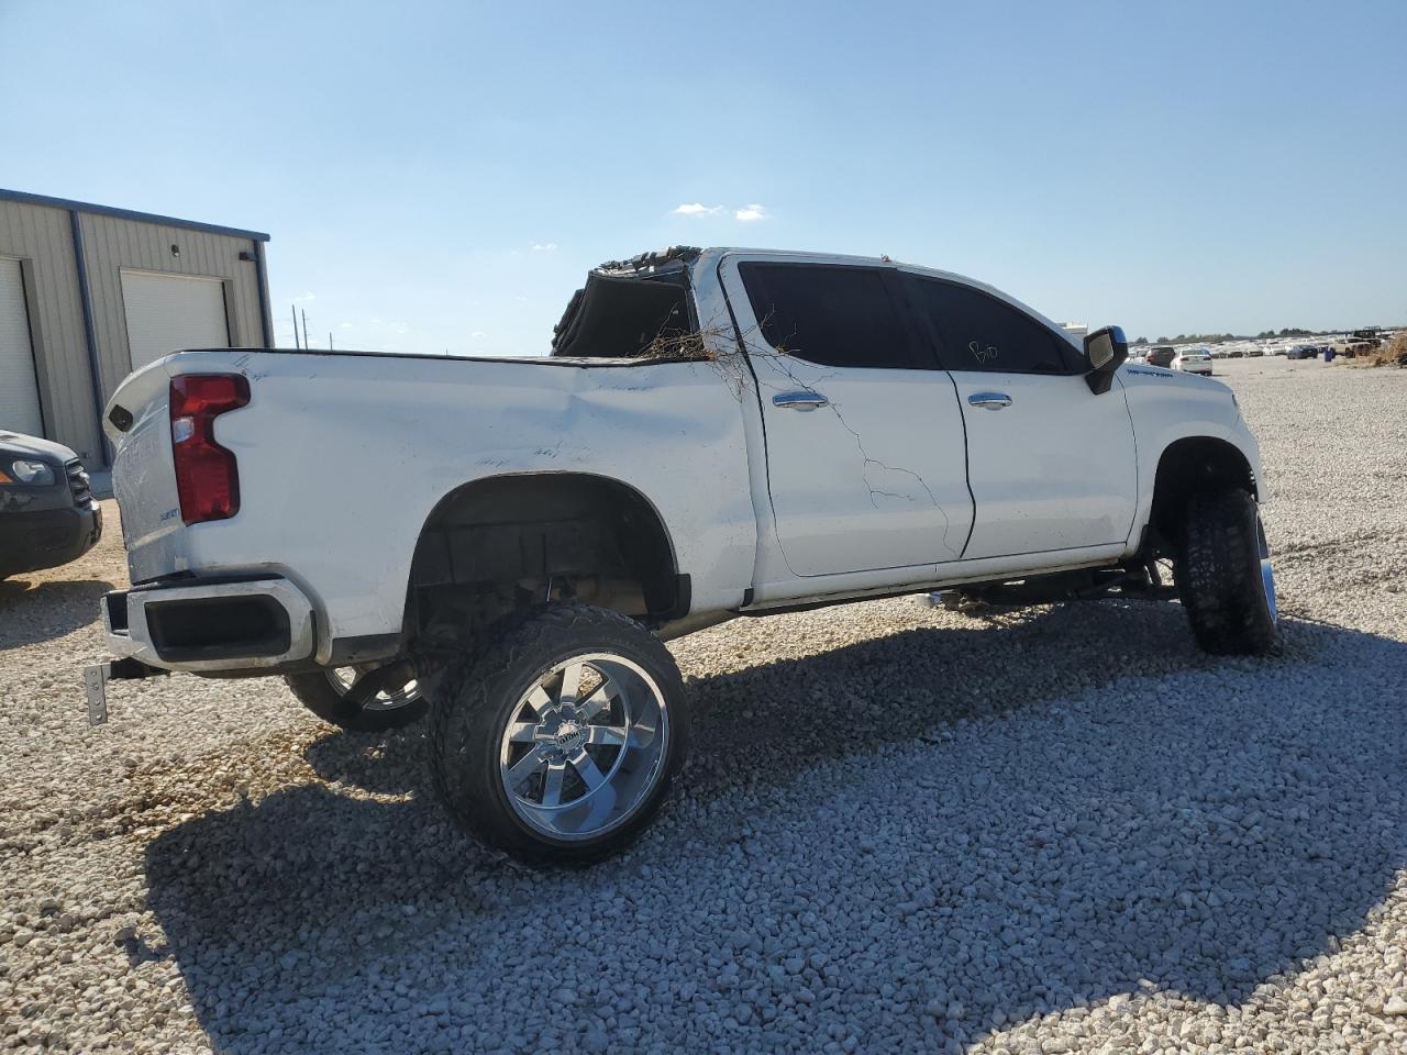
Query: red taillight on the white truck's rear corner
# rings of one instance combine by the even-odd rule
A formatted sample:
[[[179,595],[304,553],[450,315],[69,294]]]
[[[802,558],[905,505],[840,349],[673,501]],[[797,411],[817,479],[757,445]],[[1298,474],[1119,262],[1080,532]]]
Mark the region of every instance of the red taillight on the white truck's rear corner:
[[[180,519],[227,520],[239,512],[239,466],[215,443],[215,418],[249,402],[243,374],[186,374],[172,378],[172,454]]]

